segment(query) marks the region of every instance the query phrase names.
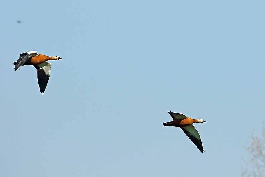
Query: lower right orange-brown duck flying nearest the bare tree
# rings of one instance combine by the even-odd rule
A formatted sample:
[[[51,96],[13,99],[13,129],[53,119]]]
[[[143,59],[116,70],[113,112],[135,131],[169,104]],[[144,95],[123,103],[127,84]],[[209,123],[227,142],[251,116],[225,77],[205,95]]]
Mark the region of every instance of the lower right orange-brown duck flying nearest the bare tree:
[[[180,127],[181,130],[190,138],[190,140],[197,146],[201,153],[203,153],[202,142],[200,139],[199,132],[192,125],[193,123],[203,123],[206,122],[203,119],[191,119],[182,113],[168,112],[173,118],[171,122],[163,123],[164,126],[174,126]]]

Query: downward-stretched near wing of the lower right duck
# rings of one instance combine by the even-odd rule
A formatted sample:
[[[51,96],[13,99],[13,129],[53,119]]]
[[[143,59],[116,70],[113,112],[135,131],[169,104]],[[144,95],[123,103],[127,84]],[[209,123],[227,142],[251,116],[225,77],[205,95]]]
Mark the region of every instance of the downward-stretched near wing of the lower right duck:
[[[202,142],[200,139],[199,132],[195,129],[195,127],[191,124],[189,126],[180,127],[184,133],[190,138],[190,140],[197,146],[201,153],[203,153]]]

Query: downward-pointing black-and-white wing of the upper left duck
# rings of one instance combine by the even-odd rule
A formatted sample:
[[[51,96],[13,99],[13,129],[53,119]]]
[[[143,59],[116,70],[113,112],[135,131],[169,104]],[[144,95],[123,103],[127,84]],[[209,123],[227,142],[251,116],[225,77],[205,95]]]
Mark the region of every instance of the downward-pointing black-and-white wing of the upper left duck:
[[[35,68],[37,69],[40,91],[41,93],[44,93],[46,86],[48,84],[49,78],[50,78],[51,63],[49,63],[48,61],[45,61],[41,63],[40,65],[35,65]]]

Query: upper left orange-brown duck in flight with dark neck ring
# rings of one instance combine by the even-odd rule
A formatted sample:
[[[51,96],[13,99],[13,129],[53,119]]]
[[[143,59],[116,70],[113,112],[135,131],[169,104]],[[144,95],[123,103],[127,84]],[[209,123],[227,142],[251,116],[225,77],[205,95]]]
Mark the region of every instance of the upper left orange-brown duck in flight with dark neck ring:
[[[51,72],[51,63],[48,60],[60,60],[59,56],[48,57],[37,53],[37,51],[30,51],[20,54],[20,57],[13,64],[15,65],[15,71],[20,66],[33,65],[37,69],[38,83],[41,93],[44,93],[49,81]]]

